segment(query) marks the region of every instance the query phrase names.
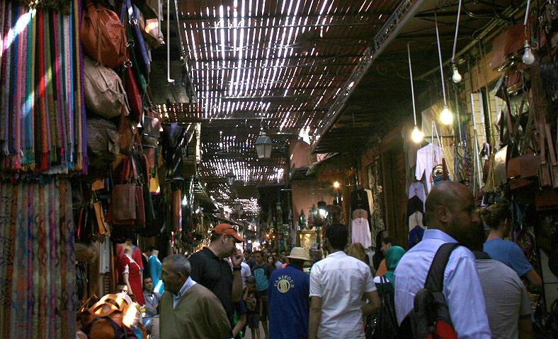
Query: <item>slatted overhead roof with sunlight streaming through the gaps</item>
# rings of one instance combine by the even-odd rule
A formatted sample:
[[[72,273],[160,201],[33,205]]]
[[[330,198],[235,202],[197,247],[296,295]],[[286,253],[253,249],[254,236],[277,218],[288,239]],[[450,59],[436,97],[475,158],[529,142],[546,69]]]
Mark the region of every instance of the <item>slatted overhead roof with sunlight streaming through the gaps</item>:
[[[200,171],[217,201],[232,202],[224,179],[230,170],[249,184],[282,179],[285,160],[256,161],[255,138],[261,131],[274,139],[302,129],[314,134],[396,6],[394,0],[180,2],[198,103],[161,105],[161,111],[168,119],[203,122]]]

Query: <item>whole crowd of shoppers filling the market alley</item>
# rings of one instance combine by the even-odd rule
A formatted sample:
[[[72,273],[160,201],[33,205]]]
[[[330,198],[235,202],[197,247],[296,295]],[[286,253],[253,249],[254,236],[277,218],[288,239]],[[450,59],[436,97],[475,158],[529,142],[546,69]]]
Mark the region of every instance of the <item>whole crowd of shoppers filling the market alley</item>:
[[[421,242],[406,252],[384,238],[377,271],[362,244],[348,245],[345,225],[325,227],[326,256],[313,263],[301,247],[243,254],[244,239],[221,224],[189,259],[167,256],[158,268],[156,250],[144,253],[164,292],[144,277],[143,324],[154,339],[243,338],[247,329],[254,339],[418,338],[431,319],[420,311],[426,290],[438,304],[428,311],[453,335],[435,338],[534,338],[521,278],[542,283],[523,251],[503,239],[510,213],[507,203],[477,210],[466,186],[441,182],[426,199]],[[129,285],[119,283],[117,293]],[[426,328],[439,330],[432,321]]]

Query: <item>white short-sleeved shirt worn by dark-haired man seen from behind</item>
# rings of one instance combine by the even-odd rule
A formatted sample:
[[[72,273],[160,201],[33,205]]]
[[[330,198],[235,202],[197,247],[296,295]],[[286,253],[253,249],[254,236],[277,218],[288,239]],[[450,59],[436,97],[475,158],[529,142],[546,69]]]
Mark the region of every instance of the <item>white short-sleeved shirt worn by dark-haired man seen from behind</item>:
[[[310,297],[321,297],[321,339],[364,339],[362,298],[376,290],[370,268],[343,251],[329,254],[310,270]]]

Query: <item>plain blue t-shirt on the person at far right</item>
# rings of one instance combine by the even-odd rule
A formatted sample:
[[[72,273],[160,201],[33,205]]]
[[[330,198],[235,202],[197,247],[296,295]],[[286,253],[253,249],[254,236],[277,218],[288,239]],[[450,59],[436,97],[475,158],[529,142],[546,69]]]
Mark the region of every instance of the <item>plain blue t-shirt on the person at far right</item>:
[[[520,277],[533,269],[533,266],[525,258],[525,254],[515,242],[494,238],[485,242],[483,247],[491,258],[505,263],[515,270]]]

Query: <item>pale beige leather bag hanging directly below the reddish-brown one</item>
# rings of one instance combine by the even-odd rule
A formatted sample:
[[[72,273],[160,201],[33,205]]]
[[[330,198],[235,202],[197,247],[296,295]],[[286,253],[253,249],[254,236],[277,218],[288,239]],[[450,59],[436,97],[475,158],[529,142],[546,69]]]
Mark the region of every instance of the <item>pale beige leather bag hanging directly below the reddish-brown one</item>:
[[[84,58],[84,94],[86,107],[99,117],[118,117],[122,109],[130,114],[126,92],[118,74]]]

